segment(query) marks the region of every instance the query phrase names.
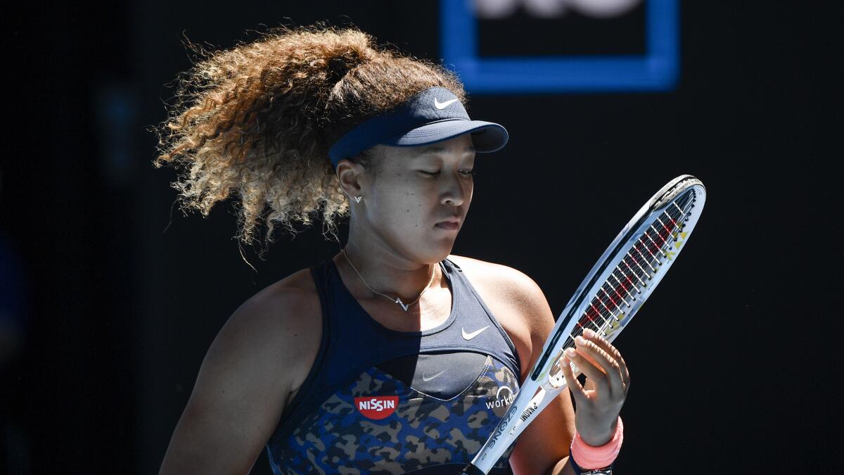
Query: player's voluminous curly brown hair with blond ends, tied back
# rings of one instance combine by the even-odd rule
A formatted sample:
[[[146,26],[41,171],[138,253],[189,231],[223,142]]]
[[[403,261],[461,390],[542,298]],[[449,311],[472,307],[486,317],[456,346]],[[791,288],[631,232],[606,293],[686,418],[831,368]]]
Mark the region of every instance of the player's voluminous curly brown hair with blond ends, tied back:
[[[349,129],[429,87],[466,101],[451,71],[354,27],[277,27],[215,52],[186,46],[197,59],[177,75],[175,101],[155,129],[154,167],[181,169],[171,185],[183,211],[208,216],[236,194],[235,238],[252,243],[265,221],[264,248],[278,225],[295,235],[295,223],[308,226],[320,212],[323,234],[337,239],[349,203],[327,152]]]

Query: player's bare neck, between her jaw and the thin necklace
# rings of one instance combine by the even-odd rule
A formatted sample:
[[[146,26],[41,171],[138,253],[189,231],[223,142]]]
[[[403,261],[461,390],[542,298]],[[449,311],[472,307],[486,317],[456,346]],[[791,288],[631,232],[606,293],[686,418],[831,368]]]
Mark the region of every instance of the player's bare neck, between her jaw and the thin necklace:
[[[401,298],[407,303],[419,297],[425,288],[436,287],[437,282],[441,281],[439,265],[414,262],[376,239],[356,239],[349,233],[349,242],[344,249],[365,283],[360,281],[349,261],[342,255],[338,254],[335,263],[345,265],[346,274],[354,277],[354,287],[349,286],[349,279],[344,280],[347,287],[361,293],[372,294],[366,286],[368,284],[372,290]]]

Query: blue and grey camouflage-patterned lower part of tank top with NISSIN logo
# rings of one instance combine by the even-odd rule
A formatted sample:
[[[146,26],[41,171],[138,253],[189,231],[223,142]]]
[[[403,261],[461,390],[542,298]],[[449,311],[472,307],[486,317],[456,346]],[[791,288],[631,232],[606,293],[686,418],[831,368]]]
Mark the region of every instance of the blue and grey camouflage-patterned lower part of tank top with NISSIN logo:
[[[490,437],[517,390],[516,375],[492,357],[471,385],[445,401],[372,368],[322,402],[293,434],[270,445],[270,463],[274,473],[344,475],[465,464]],[[398,402],[394,410],[362,410],[371,396],[398,396]],[[356,397],[366,400],[356,404]],[[509,454],[496,467],[509,467]]]

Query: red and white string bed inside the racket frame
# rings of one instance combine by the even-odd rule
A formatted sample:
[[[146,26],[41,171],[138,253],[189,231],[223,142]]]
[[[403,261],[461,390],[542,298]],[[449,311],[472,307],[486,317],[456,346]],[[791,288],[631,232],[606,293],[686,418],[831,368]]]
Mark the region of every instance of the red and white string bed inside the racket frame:
[[[689,190],[680,194],[657,215],[622,257],[619,265],[610,272],[608,279],[598,287],[571,335],[566,338],[564,350],[574,347],[576,336],[582,335],[587,328],[607,336],[606,330],[618,325],[625,316],[625,308],[630,308],[636,294],[647,287],[647,281],[652,280],[663,264],[663,259],[670,259],[671,244],[677,241],[694,205],[695,192]]]

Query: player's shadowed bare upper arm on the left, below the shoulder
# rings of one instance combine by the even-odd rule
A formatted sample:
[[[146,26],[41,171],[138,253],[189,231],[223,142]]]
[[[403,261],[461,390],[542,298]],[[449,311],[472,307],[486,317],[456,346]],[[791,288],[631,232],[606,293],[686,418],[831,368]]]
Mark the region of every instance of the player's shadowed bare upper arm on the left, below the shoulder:
[[[284,293],[284,292],[282,292]],[[259,294],[261,295],[261,294]],[[300,357],[295,295],[252,298],[219,331],[160,474],[248,473],[279,422]]]

